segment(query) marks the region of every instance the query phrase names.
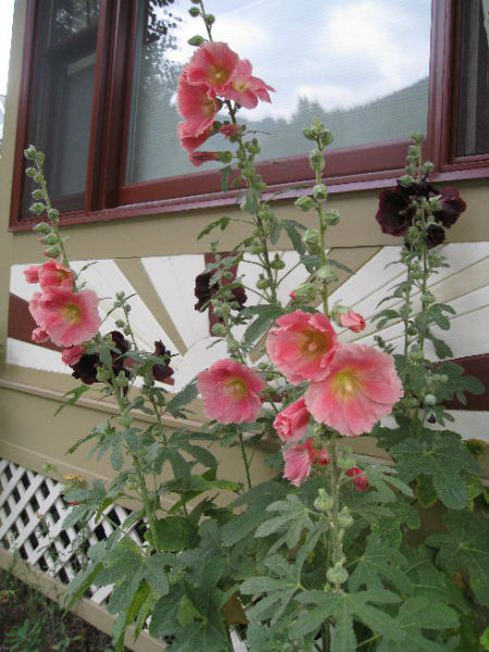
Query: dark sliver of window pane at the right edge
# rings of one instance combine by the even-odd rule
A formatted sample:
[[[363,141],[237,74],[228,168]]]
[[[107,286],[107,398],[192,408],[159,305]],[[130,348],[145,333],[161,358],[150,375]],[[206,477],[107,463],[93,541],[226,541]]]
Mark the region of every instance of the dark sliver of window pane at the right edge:
[[[463,2],[461,12],[459,156],[489,152],[489,2]]]

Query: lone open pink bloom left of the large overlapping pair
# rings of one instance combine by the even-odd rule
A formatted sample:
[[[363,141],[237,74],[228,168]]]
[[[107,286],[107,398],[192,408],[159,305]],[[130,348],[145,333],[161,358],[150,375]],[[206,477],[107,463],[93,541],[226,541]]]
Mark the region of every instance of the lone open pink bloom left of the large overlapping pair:
[[[265,384],[243,364],[226,359],[201,372],[197,387],[208,418],[221,424],[240,424],[256,418]]]

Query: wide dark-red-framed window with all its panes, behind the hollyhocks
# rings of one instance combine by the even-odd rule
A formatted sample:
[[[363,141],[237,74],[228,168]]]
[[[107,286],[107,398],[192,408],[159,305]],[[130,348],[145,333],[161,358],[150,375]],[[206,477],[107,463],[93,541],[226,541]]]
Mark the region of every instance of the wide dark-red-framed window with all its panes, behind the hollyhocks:
[[[315,115],[335,133],[326,168],[334,187],[396,178],[414,130],[427,134],[439,180],[489,174],[488,0],[206,4],[218,16],[216,38],[277,87],[271,105],[242,111],[261,131],[274,190],[310,179],[301,131]],[[13,228],[33,221],[22,201],[30,141],[47,151],[52,193],[71,222],[231,201],[218,171],[191,167],[176,139],[176,83],[200,27],[188,7],[28,2]]]

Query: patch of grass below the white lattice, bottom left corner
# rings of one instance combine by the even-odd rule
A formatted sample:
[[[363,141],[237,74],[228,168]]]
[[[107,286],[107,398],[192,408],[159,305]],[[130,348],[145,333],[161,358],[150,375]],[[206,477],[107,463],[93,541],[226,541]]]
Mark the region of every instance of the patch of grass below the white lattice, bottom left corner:
[[[112,645],[109,636],[0,569],[0,652],[112,652]]]

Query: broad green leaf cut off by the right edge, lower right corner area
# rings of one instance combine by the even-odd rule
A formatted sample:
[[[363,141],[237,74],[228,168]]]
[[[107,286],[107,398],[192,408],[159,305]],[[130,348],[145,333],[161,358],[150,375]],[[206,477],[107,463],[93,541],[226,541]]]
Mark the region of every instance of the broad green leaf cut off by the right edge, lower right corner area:
[[[443,522],[448,532],[426,540],[439,549],[437,563],[449,573],[466,569],[477,600],[489,605],[489,518],[471,512],[449,512]]]

